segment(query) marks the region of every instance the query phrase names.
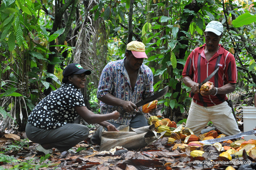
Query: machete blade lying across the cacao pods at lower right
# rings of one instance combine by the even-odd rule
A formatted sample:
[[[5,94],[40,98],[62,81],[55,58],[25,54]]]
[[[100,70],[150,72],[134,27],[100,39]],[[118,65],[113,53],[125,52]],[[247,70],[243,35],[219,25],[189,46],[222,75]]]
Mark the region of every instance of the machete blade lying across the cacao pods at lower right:
[[[238,133],[236,135],[225,136],[225,137],[216,138],[216,139],[209,139],[209,140],[204,140],[204,141],[199,141],[199,142],[204,143],[204,144],[213,144],[213,143],[216,143],[216,142],[223,142],[223,141],[226,141],[226,140],[240,138],[242,136],[252,135],[252,134],[255,134],[255,133],[256,133],[256,130],[251,130],[251,131],[247,131],[247,132],[243,132],[243,133]]]

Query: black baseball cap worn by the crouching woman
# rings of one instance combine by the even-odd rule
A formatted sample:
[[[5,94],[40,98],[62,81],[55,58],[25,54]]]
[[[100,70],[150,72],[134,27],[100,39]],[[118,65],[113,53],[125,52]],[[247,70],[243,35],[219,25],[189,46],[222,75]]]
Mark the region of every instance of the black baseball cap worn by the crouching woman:
[[[72,74],[82,74],[82,73],[85,73],[86,75],[90,75],[91,71],[83,69],[83,67],[78,63],[71,63],[66,66],[66,68],[62,72],[62,75],[63,77],[67,77]]]

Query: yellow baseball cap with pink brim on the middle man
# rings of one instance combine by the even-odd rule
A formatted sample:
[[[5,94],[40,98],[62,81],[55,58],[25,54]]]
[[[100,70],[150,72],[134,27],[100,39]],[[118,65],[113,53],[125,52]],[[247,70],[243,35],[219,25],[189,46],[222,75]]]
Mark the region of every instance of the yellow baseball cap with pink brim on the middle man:
[[[145,53],[145,45],[139,41],[131,41],[127,44],[126,49],[130,50],[136,58],[148,58]]]

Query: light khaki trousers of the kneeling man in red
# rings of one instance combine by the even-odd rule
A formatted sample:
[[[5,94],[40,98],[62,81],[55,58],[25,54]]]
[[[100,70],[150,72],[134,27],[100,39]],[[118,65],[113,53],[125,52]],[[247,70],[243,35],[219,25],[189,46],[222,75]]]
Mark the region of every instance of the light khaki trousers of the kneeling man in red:
[[[186,121],[186,128],[190,128],[195,135],[211,121],[223,134],[234,135],[241,133],[231,107],[227,102],[215,106],[204,107],[196,104],[193,100],[189,109],[189,116]]]

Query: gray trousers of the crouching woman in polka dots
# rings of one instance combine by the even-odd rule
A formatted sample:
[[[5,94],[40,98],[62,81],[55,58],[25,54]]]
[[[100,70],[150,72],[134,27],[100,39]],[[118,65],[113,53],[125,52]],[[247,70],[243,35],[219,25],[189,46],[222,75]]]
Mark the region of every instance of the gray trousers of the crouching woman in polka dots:
[[[61,152],[67,151],[89,136],[89,128],[76,120],[57,129],[40,129],[29,123],[26,125],[26,135],[29,140],[39,144],[50,144]]]

